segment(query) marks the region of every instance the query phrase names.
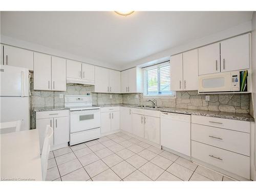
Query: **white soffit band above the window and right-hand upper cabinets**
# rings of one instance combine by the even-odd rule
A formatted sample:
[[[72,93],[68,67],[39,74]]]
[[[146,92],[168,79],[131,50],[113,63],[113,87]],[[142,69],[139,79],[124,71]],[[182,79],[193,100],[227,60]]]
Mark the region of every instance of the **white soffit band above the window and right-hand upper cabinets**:
[[[129,69],[129,68],[132,68],[132,67],[135,67],[135,66],[146,66],[147,63],[150,63],[154,60],[158,60],[158,59],[163,58],[163,57],[168,57],[170,55],[181,53],[181,52],[184,52],[184,51],[187,51],[187,50],[190,50],[190,49],[194,49],[194,48],[197,48],[197,47],[201,47],[201,46],[204,46],[204,45],[208,45],[208,44],[211,44],[212,42],[216,42],[216,41],[219,41],[219,40],[222,40],[222,39],[226,39],[226,38],[236,36],[236,35],[239,35],[239,34],[243,34],[243,33],[246,33],[246,32],[250,32],[250,31],[251,31],[251,21],[240,24],[240,25],[238,25],[236,27],[233,27],[233,28],[229,28],[229,29],[224,30],[224,31],[220,31],[219,33],[212,34],[212,35],[194,40],[192,42],[188,42],[185,45],[170,48],[170,49],[155,53],[153,55],[144,57],[142,59],[133,61],[133,62],[129,63],[129,65],[122,66],[122,70]]]

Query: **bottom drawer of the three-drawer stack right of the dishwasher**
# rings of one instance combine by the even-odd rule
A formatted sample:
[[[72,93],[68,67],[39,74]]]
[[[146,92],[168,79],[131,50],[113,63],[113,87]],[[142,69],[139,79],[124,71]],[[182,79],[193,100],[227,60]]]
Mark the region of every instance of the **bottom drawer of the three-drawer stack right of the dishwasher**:
[[[191,156],[250,179],[250,158],[196,141],[191,141]],[[220,158],[220,159],[218,159]]]

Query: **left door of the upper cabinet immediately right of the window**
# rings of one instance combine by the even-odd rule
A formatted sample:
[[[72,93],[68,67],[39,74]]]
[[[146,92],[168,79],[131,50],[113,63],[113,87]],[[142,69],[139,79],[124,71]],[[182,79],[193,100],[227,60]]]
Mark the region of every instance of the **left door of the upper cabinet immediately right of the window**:
[[[181,91],[183,88],[182,53],[170,57],[170,90]]]

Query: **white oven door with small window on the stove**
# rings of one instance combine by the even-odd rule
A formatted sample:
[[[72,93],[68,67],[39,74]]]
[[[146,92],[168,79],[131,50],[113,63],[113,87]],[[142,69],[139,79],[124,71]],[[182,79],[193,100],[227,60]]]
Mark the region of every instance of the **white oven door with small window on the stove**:
[[[84,110],[70,112],[70,133],[100,127],[100,110]]]

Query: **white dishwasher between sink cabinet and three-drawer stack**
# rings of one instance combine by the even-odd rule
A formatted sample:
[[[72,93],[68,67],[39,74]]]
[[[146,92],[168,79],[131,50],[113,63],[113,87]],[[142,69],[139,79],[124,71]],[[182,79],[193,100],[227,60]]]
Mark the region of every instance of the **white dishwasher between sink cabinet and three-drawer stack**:
[[[190,156],[190,122],[191,115],[161,112],[161,145]]]

